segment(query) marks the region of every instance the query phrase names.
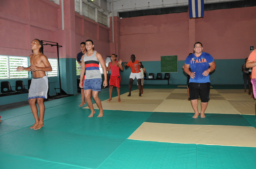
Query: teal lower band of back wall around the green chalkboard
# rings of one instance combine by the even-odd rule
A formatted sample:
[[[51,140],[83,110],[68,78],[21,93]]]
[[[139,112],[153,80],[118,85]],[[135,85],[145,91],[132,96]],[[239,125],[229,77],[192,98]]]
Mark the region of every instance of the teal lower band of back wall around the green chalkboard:
[[[241,71],[245,59],[216,59],[216,69],[210,73],[211,84],[244,84],[243,72]],[[154,74],[161,72],[161,61],[142,61],[143,66],[147,72]],[[184,60],[178,61],[178,73],[170,73],[170,84],[186,84],[187,74],[183,72],[181,67],[184,65]],[[129,77],[131,74],[130,67],[120,71],[121,84],[129,84]],[[162,73],[164,77],[164,73]],[[136,80],[134,83],[136,84]],[[165,80],[145,80],[144,84],[167,84]]]

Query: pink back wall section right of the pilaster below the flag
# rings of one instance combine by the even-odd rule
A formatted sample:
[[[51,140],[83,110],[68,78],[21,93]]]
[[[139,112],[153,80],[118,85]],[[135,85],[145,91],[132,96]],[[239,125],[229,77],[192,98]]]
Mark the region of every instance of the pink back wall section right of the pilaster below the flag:
[[[256,47],[256,7],[205,11],[196,20],[196,41],[215,59],[242,59]]]

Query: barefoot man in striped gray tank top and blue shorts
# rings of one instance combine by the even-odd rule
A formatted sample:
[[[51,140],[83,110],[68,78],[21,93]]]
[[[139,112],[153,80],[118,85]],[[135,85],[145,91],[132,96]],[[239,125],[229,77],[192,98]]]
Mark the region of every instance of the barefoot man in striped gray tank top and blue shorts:
[[[99,64],[101,64],[103,73],[104,73],[104,82],[103,86],[107,86],[107,70],[105,66],[104,59],[102,58],[101,54],[93,50],[93,41],[87,40],[85,42],[85,46],[87,49],[87,53],[82,56],[82,68],[81,68],[81,75],[80,75],[80,88],[84,88],[84,94],[86,102],[91,110],[91,114],[88,117],[93,117],[95,111],[93,108],[93,103],[91,99],[91,93],[93,95],[93,99],[96,102],[99,108],[99,115],[97,117],[103,116],[103,109],[101,100],[98,98],[98,93],[101,91],[101,71],[99,70]],[[86,71],[85,71],[86,69]],[[83,85],[83,76],[85,72],[85,79]]]

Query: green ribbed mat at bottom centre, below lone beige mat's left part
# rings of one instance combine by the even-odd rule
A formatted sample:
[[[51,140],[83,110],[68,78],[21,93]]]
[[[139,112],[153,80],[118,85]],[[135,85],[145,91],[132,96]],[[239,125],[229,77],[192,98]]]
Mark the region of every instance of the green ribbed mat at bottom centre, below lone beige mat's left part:
[[[99,167],[99,169],[121,168],[196,169],[197,145],[128,139]]]

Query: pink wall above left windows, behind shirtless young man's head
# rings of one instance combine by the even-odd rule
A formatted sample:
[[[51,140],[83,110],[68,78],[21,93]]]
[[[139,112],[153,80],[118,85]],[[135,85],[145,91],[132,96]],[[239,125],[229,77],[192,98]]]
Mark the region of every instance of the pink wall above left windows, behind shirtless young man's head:
[[[0,55],[29,56],[35,38],[56,42],[59,5],[49,0],[3,0],[0,5]],[[44,46],[49,58],[57,58],[56,48]]]

